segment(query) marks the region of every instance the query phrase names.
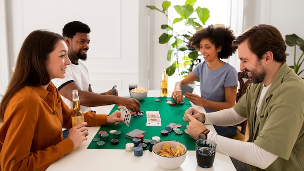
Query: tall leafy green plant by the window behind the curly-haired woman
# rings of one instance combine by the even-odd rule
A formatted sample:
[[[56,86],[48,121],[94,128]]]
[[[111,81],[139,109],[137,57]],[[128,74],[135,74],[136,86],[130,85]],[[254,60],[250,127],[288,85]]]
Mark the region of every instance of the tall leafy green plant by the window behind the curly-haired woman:
[[[200,6],[194,10],[195,2],[196,0],[186,0],[182,6],[173,6],[175,12],[180,15],[180,17],[174,18],[173,21],[171,21],[167,11],[171,6],[170,1],[163,1],[162,10],[155,6],[146,6],[164,14],[169,21],[169,24],[161,25],[161,29],[166,30],[168,33],[160,35],[158,41],[160,44],[170,43],[167,53],[167,60],[170,62],[170,66],[166,68],[168,76],[173,75],[177,69],[179,78],[183,79],[192,71],[194,66],[201,62],[198,58],[200,56],[198,51],[195,51],[193,47],[187,47],[186,44],[196,30],[203,28],[202,25],[205,25],[210,17],[210,11]],[[183,27],[176,27],[176,24],[181,24],[181,22],[183,22]]]

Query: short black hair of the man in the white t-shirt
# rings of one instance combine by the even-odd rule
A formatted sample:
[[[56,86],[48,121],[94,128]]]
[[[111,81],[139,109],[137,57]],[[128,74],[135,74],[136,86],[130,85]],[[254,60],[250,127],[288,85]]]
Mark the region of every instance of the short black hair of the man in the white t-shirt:
[[[72,21],[64,26],[62,29],[62,35],[64,37],[73,38],[76,33],[90,33],[91,29],[88,25],[80,22],[80,21]]]

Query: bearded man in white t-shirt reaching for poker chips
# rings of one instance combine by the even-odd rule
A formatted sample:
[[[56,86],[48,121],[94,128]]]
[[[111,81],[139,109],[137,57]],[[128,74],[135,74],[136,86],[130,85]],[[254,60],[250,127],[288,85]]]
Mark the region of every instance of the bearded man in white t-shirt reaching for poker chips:
[[[68,45],[68,58],[71,65],[66,69],[66,77],[53,79],[52,82],[58,88],[64,102],[72,108],[72,90],[78,89],[83,112],[90,111],[90,107],[108,104],[123,105],[132,111],[140,112],[140,103],[128,97],[119,97],[117,90],[109,90],[104,93],[94,93],[89,81],[89,74],[86,66],[79,61],[86,60],[86,53],[89,50],[90,28],[80,22],[72,21],[66,24],[62,30],[65,41]]]

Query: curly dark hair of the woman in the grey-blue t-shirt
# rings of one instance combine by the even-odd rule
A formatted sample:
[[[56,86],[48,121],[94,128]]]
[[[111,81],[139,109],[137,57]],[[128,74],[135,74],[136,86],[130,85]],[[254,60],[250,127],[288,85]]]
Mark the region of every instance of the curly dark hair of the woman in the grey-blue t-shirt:
[[[237,47],[231,45],[236,37],[230,27],[209,25],[193,34],[187,45],[199,51],[201,40],[204,38],[209,39],[215,48],[221,47],[221,51],[218,53],[220,59],[227,59],[236,52]]]

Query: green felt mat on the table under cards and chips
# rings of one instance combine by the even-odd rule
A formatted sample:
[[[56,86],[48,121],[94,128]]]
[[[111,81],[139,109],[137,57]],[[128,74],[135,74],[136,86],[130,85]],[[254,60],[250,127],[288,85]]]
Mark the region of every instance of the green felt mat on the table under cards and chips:
[[[155,102],[155,99],[161,99],[160,102]],[[105,125],[101,126],[99,131],[106,131],[109,133],[110,130],[115,129],[121,132],[120,138],[118,138],[119,143],[118,145],[111,145],[110,140],[113,138],[113,135],[109,134],[109,141],[105,142],[105,146],[101,149],[125,149],[125,144],[132,142],[131,138],[127,138],[125,135],[134,130],[134,129],[140,129],[143,131],[146,131],[146,134],[144,136],[145,139],[152,139],[153,136],[158,136],[162,140],[176,140],[184,143],[187,147],[187,150],[195,150],[195,140],[187,135],[184,130],[186,129],[187,122],[183,120],[184,113],[187,108],[191,107],[190,102],[187,99],[185,100],[184,104],[176,104],[174,106],[171,106],[166,103],[166,100],[169,98],[166,97],[147,97],[144,101],[140,102],[140,109],[144,111],[144,115],[140,118],[135,118],[134,116],[131,117],[130,125],[129,127],[124,123],[121,122],[118,125],[111,124],[111,125]],[[115,110],[118,109],[118,105],[115,105],[113,109],[111,110],[110,114],[113,113]],[[160,118],[161,118],[161,126],[146,126],[147,123],[147,117],[146,112],[147,111],[159,111]],[[183,131],[182,135],[176,135],[172,131],[169,133],[169,136],[163,136],[161,135],[160,131],[165,130],[166,126],[169,125],[169,123],[175,123],[175,124],[181,124],[182,127],[180,128]],[[95,137],[99,137],[99,131],[96,133]],[[97,142],[91,141],[88,149],[99,149],[96,145]],[[149,148],[149,146],[147,147]]]

